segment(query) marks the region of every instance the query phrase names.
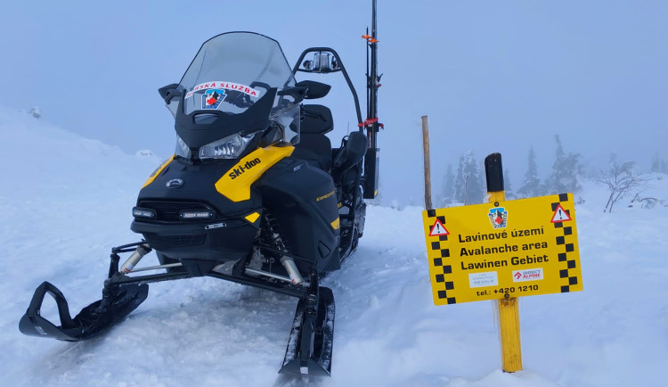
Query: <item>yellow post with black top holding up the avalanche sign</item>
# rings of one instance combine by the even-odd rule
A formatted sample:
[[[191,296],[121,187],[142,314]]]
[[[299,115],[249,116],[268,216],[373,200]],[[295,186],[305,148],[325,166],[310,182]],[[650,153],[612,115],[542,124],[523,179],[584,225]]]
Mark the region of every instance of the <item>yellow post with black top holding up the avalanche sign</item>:
[[[485,158],[488,202],[498,205],[506,200],[503,190],[503,168],[501,154],[493,153]],[[508,295],[508,294],[506,294]],[[501,337],[501,363],[504,372],[522,369],[522,345],[519,341],[519,301],[509,297],[498,301],[499,335]]]

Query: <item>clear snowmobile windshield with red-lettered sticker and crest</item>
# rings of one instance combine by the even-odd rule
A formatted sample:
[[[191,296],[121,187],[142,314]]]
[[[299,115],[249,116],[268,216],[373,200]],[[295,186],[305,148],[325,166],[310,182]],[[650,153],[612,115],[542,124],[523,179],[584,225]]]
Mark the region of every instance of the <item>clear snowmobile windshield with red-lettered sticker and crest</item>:
[[[182,98],[172,99],[167,107],[175,117],[181,109],[182,114],[195,113],[206,122],[207,112],[243,114],[275,88],[277,94],[267,119],[273,127],[281,129],[282,141],[296,144],[298,101],[281,93],[295,83],[278,42],[252,32],[230,32],[212,37],[201,46],[179,82]],[[179,106],[181,103],[183,106]],[[230,129],[234,132],[248,130],[225,128],[225,136]]]

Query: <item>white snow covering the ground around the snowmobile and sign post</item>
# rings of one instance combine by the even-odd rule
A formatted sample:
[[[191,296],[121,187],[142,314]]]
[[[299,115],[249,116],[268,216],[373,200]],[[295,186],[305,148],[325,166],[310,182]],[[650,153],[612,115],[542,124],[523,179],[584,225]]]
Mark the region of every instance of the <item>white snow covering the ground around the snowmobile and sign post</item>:
[[[89,342],[22,335],[44,280],[71,313],[100,298],[110,248],[159,158],[127,155],[0,109],[0,373],[12,386],[301,385],[277,375],[297,300],[214,278],[151,284],[126,321]],[[654,176],[666,199],[668,178]],[[319,386],[663,386],[668,369],[668,207],[603,213],[584,184],[576,207],[583,292],[520,300],[524,370],[501,371],[492,301],[436,307],[421,209],[371,206],[358,250],[323,285],[336,298],[332,376]],[[151,253],[140,264],[154,264]],[[45,301],[45,317],[54,318]]]

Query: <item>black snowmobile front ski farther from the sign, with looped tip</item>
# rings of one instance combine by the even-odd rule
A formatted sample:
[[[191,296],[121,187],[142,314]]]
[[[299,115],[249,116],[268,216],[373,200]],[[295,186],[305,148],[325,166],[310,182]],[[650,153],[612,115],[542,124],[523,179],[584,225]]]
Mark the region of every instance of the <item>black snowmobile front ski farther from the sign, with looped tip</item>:
[[[58,307],[61,325],[54,325],[41,316],[42,303],[50,294]],[[106,331],[136,309],[149,295],[147,284],[105,284],[102,300],[82,309],[77,317],[70,317],[68,301],[53,284],[44,282],[37,287],[30,306],[20,319],[19,330],[23,334],[51,337],[67,342],[93,338]]]

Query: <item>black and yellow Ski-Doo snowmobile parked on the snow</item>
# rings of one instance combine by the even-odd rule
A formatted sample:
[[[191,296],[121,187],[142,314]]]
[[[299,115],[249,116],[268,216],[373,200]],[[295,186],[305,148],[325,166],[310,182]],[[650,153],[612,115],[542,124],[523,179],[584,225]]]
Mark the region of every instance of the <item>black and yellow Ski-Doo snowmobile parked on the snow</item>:
[[[346,68],[330,48],[309,48],[290,68],[279,43],[257,33],[224,33],[201,45],[181,81],[159,89],[175,118],[177,144],[132,210],[131,229],[142,241],[112,249],[102,300],[76,317],[53,284],[39,285],[20,332],[88,340],[136,309],[149,283],[211,276],[296,297],[280,373],[330,375],[334,297],[320,281],[357,247],[363,199],[378,186],[377,41],[365,39],[372,61],[364,121]],[[297,82],[297,72],[346,78],[359,130],[339,147],[325,136],[333,128],[330,109],[305,103],[330,86]],[[138,267],[150,251],[159,265]],[[129,255],[123,264],[121,255]],[[41,316],[46,294],[60,325]]]

